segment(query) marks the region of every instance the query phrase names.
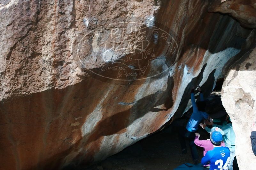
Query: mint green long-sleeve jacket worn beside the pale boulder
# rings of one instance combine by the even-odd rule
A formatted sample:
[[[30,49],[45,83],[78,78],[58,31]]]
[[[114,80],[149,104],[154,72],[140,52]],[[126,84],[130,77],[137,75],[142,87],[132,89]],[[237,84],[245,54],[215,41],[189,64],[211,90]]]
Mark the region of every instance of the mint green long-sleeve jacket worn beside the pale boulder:
[[[223,141],[225,143],[225,146],[227,146],[229,148],[230,152],[235,152],[235,150],[236,150],[236,135],[233,130],[232,124],[229,123],[225,126],[213,124],[213,126],[221,128],[221,130],[224,131],[225,134],[223,135]],[[205,127],[205,130],[208,133],[211,132],[211,128],[208,128],[207,126]]]

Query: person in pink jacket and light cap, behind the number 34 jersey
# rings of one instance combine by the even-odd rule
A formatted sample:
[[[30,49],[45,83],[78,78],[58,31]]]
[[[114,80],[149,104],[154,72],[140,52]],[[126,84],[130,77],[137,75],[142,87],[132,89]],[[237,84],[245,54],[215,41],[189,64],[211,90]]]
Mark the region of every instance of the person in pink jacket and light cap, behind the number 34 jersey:
[[[212,130],[211,130],[211,133],[212,133],[213,131],[219,131],[219,132],[221,132],[222,135],[224,135],[224,131],[222,131],[222,130],[221,130],[220,128],[218,128],[218,127],[213,127]],[[211,133],[210,133],[210,134],[211,134]],[[199,140],[199,137],[200,137],[200,134],[199,134],[199,133],[196,133],[196,137],[195,137],[194,142],[195,142],[196,145],[198,145],[198,146],[204,148],[204,156],[205,156],[206,152],[213,150],[213,144],[212,144],[212,142],[211,142],[210,139],[207,139],[207,140]],[[224,143],[223,141],[221,142],[221,146],[225,146],[225,143]],[[210,165],[205,165],[205,166],[210,166]]]

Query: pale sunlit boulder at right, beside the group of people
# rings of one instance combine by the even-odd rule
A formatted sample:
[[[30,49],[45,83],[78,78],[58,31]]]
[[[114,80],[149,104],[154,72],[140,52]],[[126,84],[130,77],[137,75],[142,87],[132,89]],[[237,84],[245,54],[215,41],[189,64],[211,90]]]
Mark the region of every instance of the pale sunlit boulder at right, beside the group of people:
[[[221,100],[236,134],[236,156],[240,169],[255,169],[250,127],[256,121],[256,36],[246,40],[247,52],[238,54],[226,75]]]

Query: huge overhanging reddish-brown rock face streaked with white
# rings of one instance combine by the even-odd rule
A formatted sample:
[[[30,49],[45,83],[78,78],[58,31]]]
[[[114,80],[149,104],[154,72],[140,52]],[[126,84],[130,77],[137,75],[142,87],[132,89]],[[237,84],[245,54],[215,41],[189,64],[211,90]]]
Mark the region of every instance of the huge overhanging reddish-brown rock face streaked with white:
[[[5,0],[1,169],[88,165],[180,117],[192,84],[209,94],[250,33],[208,8],[201,0]]]

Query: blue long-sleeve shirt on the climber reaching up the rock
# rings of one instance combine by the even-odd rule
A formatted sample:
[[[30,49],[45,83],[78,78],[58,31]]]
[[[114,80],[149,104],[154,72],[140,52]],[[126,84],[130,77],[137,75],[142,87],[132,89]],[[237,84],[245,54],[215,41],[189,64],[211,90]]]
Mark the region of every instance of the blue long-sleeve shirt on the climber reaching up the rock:
[[[202,93],[200,93],[200,101],[204,101],[204,96]],[[198,130],[200,122],[203,120],[203,118],[207,119],[208,114],[206,112],[198,110],[194,93],[191,93],[191,102],[193,107],[193,113],[189,119],[189,122],[187,123],[187,130],[193,132]]]

